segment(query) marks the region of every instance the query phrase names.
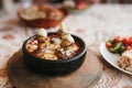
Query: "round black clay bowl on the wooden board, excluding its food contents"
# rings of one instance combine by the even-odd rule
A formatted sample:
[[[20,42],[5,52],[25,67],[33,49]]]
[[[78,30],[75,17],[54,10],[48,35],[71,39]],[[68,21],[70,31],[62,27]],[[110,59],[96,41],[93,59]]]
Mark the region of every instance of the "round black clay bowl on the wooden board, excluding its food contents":
[[[55,33],[48,33],[48,34],[55,34]],[[35,36],[36,35],[28,38],[24,42],[22,47],[25,65],[31,70],[37,74],[64,75],[78,69],[84,63],[87,47],[85,42],[80,37],[76,35],[72,35],[75,41],[80,43],[80,53],[78,55],[68,59],[50,61],[50,59],[42,59],[42,58],[34,57],[26,51],[28,41],[31,38],[34,38]]]

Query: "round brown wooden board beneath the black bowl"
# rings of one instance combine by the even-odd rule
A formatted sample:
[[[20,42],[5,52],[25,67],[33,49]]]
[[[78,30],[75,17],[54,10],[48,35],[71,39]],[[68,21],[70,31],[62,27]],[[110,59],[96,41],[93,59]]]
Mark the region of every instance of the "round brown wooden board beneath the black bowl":
[[[22,51],[15,53],[8,63],[8,76],[18,88],[89,88],[97,84],[102,74],[99,58],[87,51],[82,66],[64,76],[41,76],[26,69]]]

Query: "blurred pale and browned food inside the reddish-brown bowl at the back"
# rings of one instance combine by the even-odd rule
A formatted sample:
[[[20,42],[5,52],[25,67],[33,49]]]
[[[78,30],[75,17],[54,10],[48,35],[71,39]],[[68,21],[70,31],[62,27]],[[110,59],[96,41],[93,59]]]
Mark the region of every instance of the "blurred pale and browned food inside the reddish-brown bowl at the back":
[[[45,6],[31,6],[21,11],[20,15],[26,20],[35,19],[50,19],[50,20],[61,20],[64,14],[56,8],[45,4]]]

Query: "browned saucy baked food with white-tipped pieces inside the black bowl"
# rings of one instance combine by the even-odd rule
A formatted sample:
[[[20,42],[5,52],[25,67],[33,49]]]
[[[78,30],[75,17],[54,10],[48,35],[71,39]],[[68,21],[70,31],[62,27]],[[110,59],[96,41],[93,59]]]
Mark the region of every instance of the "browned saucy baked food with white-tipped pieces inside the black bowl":
[[[80,52],[80,45],[66,32],[62,23],[59,30],[53,34],[38,29],[36,37],[28,42],[26,50],[35,57],[56,61],[76,56]]]

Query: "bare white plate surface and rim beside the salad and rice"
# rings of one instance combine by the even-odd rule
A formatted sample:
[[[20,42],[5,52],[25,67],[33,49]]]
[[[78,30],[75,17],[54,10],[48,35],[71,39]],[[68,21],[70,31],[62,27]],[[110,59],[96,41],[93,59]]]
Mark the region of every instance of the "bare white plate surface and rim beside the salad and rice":
[[[106,43],[102,43],[100,45],[100,53],[102,55],[102,57],[109,63],[111,64],[113,67],[118,68],[119,70],[123,72],[123,73],[127,73],[129,75],[132,75],[132,73],[128,72],[128,70],[124,70],[123,68],[119,67],[118,66],[118,61],[120,59],[120,55],[118,54],[112,54],[110,53],[107,47],[106,47]]]

